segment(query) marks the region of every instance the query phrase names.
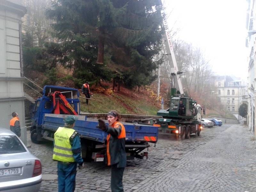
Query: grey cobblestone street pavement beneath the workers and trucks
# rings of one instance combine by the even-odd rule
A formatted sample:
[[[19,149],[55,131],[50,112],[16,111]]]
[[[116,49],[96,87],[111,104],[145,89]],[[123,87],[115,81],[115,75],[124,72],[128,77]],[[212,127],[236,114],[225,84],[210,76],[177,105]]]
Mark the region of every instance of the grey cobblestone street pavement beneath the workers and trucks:
[[[28,132],[28,138],[29,132]],[[29,150],[41,159],[43,174],[57,174],[52,142],[38,145],[28,139]],[[240,125],[205,128],[200,136],[177,140],[160,136],[148,159],[127,161],[124,191],[255,192],[256,140]],[[77,171],[76,191],[111,191],[110,168],[85,163]],[[57,180],[43,180],[40,191],[57,191]]]

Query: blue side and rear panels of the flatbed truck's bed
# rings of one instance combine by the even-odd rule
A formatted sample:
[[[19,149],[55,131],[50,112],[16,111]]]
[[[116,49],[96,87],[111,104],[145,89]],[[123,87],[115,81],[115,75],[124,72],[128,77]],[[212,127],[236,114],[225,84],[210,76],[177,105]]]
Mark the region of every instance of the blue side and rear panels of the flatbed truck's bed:
[[[64,126],[64,118],[67,115],[44,114],[42,128],[45,130],[56,131],[59,127]],[[108,133],[100,130],[97,119],[87,118],[86,116],[77,116],[74,129],[79,133],[81,138],[95,140],[105,143]],[[108,121],[104,120],[108,125]],[[156,143],[158,139],[158,127],[145,124],[132,124],[121,122],[126,132],[126,141],[147,141]]]

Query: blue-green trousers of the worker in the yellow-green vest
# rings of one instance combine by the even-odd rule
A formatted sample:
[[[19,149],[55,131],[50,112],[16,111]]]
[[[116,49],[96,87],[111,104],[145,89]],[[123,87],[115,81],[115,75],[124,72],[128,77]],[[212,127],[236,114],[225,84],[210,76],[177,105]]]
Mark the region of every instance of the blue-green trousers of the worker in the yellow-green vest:
[[[76,162],[62,163],[58,161],[59,192],[74,192],[76,188]]]

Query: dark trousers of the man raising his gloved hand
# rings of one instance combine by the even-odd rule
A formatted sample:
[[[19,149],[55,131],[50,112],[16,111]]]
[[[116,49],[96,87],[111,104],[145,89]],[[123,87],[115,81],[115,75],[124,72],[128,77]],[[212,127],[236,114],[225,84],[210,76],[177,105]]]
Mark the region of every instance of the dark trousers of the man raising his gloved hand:
[[[123,192],[124,168],[117,168],[116,164],[111,166],[111,191]]]

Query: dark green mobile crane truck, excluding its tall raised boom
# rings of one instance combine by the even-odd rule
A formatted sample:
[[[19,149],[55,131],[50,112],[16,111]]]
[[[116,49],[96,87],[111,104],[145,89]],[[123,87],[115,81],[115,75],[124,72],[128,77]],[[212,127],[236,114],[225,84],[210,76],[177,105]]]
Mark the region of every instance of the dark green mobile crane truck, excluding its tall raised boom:
[[[154,124],[159,127],[159,133],[176,134],[182,140],[190,138],[192,133],[199,136],[202,107],[192,98],[176,94],[175,88],[172,88],[171,93],[170,108],[160,109],[157,112],[157,116],[163,116],[163,118],[157,119]],[[181,109],[183,110],[182,113],[180,112]]]

